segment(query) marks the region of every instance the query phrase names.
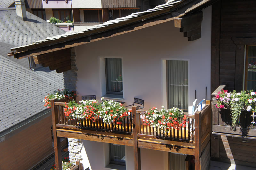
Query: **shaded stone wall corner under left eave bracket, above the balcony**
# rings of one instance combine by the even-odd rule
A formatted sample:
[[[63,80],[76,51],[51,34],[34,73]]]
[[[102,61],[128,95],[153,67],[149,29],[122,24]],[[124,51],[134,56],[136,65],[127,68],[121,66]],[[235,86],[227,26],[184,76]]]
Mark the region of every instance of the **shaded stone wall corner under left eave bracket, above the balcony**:
[[[76,68],[76,52],[75,48],[71,48],[71,70],[63,72],[63,80],[65,89],[76,90],[77,81]]]

